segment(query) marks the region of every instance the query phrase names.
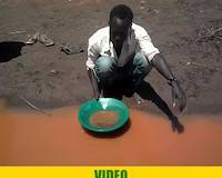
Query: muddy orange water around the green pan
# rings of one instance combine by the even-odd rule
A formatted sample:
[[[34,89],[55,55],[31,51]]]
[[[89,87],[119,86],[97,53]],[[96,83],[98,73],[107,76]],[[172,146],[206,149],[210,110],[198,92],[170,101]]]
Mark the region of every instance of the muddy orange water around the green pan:
[[[79,125],[77,108],[0,116],[0,165],[222,165],[222,117],[165,118],[130,110],[120,135],[98,137]]]

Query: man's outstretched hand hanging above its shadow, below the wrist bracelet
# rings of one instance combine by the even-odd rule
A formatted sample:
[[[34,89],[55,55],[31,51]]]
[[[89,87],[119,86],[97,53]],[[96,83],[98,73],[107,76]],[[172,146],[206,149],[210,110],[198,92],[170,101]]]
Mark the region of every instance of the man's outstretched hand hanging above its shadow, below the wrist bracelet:
[[[171,87],[172,87],[173,107],[178,106],[180,111],[182,111],[186,105],[185,93],[178,83],[178,81],[172,81]]]

